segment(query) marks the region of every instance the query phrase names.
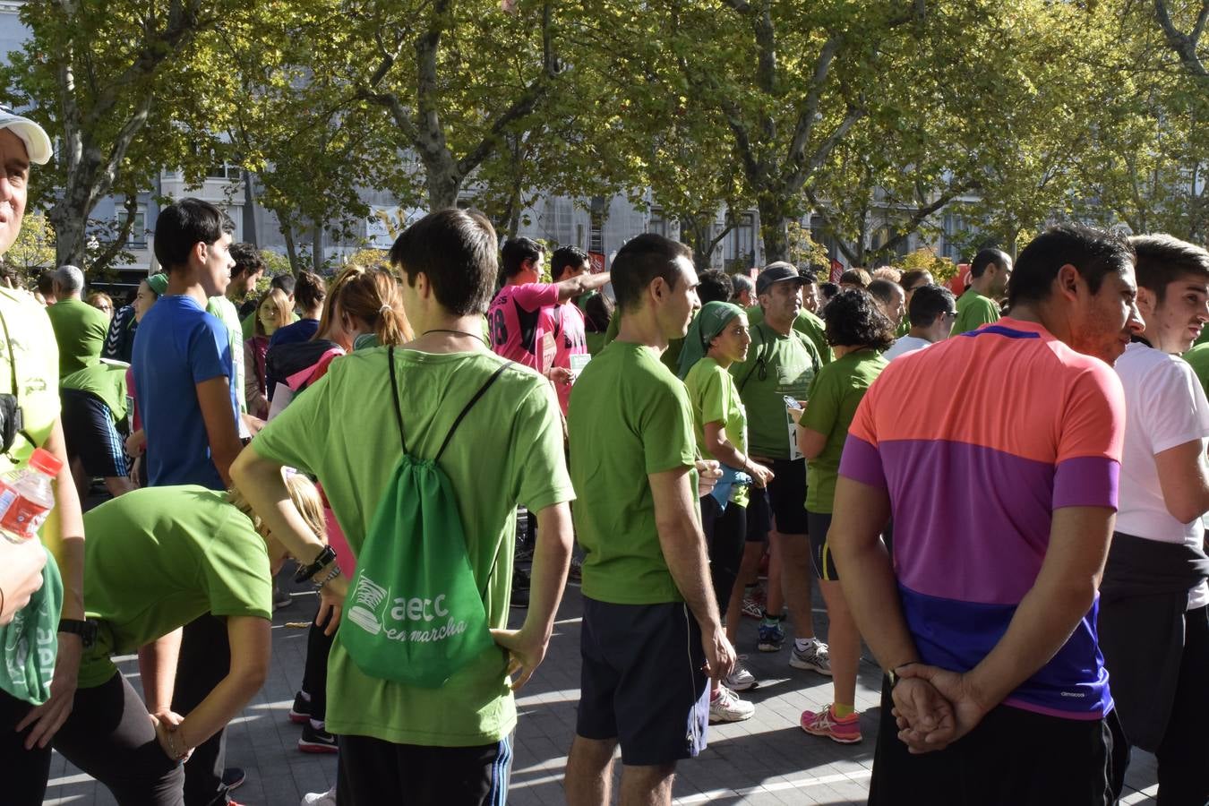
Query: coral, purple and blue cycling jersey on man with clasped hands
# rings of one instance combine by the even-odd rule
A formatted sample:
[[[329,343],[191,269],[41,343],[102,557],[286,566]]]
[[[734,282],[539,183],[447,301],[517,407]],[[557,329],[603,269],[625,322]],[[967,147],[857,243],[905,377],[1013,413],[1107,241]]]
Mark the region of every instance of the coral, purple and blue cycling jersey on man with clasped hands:
[[[965,672],[995,646],[1036,581],[1053,510],[1116,509],[1124,422],[1109,365],[1016,319],[881,373],[840,475],[889,492],[903,614],[925,662]],[[1111,711],[1098,607],[1005,704],[1069,719]]]

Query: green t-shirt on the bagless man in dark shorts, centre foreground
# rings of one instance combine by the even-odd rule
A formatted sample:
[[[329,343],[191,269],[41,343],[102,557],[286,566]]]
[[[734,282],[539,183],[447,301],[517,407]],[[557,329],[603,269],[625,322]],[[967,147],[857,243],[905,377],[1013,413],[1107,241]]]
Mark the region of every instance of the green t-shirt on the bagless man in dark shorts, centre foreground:
[[[659,545],[650,474],[694,468],[693,407],[655,350],[614,341],[579,375],[567,412],[583,593],[613,604],[683,602]]]

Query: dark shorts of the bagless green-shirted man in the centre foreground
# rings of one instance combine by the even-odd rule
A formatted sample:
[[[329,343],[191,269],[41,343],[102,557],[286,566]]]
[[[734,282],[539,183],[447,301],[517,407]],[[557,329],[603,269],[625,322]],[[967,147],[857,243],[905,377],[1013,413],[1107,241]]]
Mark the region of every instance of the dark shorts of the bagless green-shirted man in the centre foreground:
[[[710,680],[701,628],[683,603],[584,597],[575,733],[618,740],[621,764],[661,766],[705,749]]]

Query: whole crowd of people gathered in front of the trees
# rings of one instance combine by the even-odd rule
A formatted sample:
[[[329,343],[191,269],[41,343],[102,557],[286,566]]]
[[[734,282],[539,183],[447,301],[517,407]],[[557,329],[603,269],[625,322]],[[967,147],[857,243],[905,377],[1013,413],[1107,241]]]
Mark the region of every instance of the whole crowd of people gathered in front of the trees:
[[[0,112],[0,253],[50,156]],[[1059,225],[955,296],[699,274],[658,234],[594,273],[445,209],[388,265],[266,283],[232,230],[164,207],[117,311],[73,266],[0,288],[4,485],[62,462],[40,539],[0,540],[5,802],[41,802],[53,748],[123,806],[233,804],[289,558],[318,601],[289,719],[339,754],[305,804],[507,802],[568,580],[575,806],[618,750],[620,802],[670,804],[753,715],[745,616],[831,679],[798,724],[843,744],[872,650],[870,804],[1112,804],[1134,747],[1161,802],[1209,802],[1204,249]]]

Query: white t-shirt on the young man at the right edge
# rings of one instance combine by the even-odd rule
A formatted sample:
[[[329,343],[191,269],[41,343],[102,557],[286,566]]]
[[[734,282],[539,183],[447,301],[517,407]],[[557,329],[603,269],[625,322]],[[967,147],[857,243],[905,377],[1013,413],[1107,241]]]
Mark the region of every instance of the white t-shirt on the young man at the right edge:
[[[1117,359],[1117,375],[1126,389],[1126,439],[1121,456],[1121,494],[1117,530],[1161,543],[1201,545],[1201,518],[1180,523],[1163,503],[1155,456],[1178,445],[1201,440],[1209,446],[1209,400],[1192,367],[1178,355],[1129,344]],[[1209,604],[1209,585],[1188,592],[1188,609]]]

